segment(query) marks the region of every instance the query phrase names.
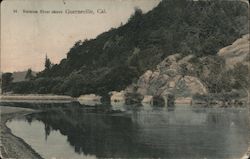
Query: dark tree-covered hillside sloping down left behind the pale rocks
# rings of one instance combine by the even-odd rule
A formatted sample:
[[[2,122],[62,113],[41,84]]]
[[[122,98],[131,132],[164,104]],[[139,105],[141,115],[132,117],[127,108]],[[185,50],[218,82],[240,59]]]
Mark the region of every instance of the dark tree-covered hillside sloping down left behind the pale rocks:
[[[77,41],[67,58],[33,81],[14,83],[13,91],[71,96],[119,91],[169,55],[216,55],[248,33],[247,21],[244,2],[163,0],[146,14],[136,9],[128,23],[96,39]]]

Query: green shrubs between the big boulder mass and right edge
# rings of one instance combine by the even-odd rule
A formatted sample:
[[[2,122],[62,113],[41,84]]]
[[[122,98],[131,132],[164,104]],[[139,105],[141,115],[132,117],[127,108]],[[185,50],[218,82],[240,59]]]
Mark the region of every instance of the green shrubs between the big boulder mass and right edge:
[[[238,63],[228,69],[225,67],[225,60],[220,56],[196,58],[192,63],[195,66],[195,76],[201,79],[210,93],[249,89],[249,66],[247,65]]]

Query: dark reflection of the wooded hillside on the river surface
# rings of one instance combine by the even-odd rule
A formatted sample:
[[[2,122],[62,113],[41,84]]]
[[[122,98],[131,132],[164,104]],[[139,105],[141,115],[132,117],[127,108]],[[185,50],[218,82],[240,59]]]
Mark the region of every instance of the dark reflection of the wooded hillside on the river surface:
[[[144,150],[161,153],[136,141],[139,127],[128,117],[85,114],[77,110],[43,112],[26,118],[29,122],[34,119],[42,121],[45,136],[53,130],[60,130],[77,153],[98,157],[127,157],[128,154],[130,157],[154,157],[144,154]]]

